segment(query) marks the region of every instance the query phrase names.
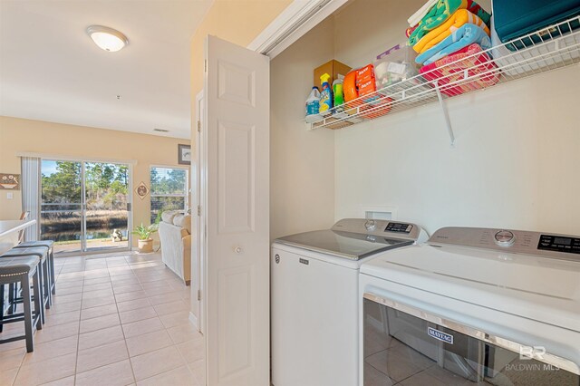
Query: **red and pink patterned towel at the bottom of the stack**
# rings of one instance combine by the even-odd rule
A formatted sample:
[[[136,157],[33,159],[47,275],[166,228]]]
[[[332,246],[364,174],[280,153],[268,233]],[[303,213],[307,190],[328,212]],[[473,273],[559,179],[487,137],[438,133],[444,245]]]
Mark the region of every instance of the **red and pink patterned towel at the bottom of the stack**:
[[[425,65],[419,72],[427,81],[436,81],[440,92],[448,96],[492,86],[499,82],[500,76],[498,66],[491,62],[488,53],[482,52],[479,44],[471,44]]]

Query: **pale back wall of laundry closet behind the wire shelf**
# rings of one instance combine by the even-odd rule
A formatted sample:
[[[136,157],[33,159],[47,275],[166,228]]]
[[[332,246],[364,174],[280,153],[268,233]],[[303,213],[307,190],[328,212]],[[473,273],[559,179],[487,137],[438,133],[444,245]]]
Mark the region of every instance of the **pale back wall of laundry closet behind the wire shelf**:
[[[372,14],[345,8],[335,20],[336,59],[363,65],[402,41],[392,36],[401,36],[409,8],[416,9],[405,3],[372,2]],[[348,19],[368,23],[340,28]],[[392,206],[399,219],[430,232],[478,226],[580,234],[579,87],[575,65],[450,100],[455,148],[437,104],[336,130],[335,218]]]

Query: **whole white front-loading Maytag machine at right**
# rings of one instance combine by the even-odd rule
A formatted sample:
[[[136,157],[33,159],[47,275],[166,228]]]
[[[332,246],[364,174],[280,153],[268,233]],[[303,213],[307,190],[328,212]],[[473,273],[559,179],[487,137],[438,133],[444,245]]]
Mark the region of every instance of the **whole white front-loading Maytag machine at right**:
[[[360,276],[361,384],[580,384],[580,236],[445,227]]]

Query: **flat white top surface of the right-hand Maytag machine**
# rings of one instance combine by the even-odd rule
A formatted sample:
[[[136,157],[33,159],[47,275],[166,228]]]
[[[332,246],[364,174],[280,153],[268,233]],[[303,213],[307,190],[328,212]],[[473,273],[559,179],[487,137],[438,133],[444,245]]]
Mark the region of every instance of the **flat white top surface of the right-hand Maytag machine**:
[[[420,245],[376,256],[361,273],[580,332],[577,261]]]

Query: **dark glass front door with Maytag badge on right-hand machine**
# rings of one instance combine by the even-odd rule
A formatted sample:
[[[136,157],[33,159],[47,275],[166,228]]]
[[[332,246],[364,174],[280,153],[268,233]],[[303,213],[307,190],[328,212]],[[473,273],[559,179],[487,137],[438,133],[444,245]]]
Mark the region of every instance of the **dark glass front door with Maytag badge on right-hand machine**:
[[[373,294],[364,297],[364,384],[580,384],[575,363],[517,343],[518,352],[507,350],[488,342],[486,333],[434,323],[441,318]]]

